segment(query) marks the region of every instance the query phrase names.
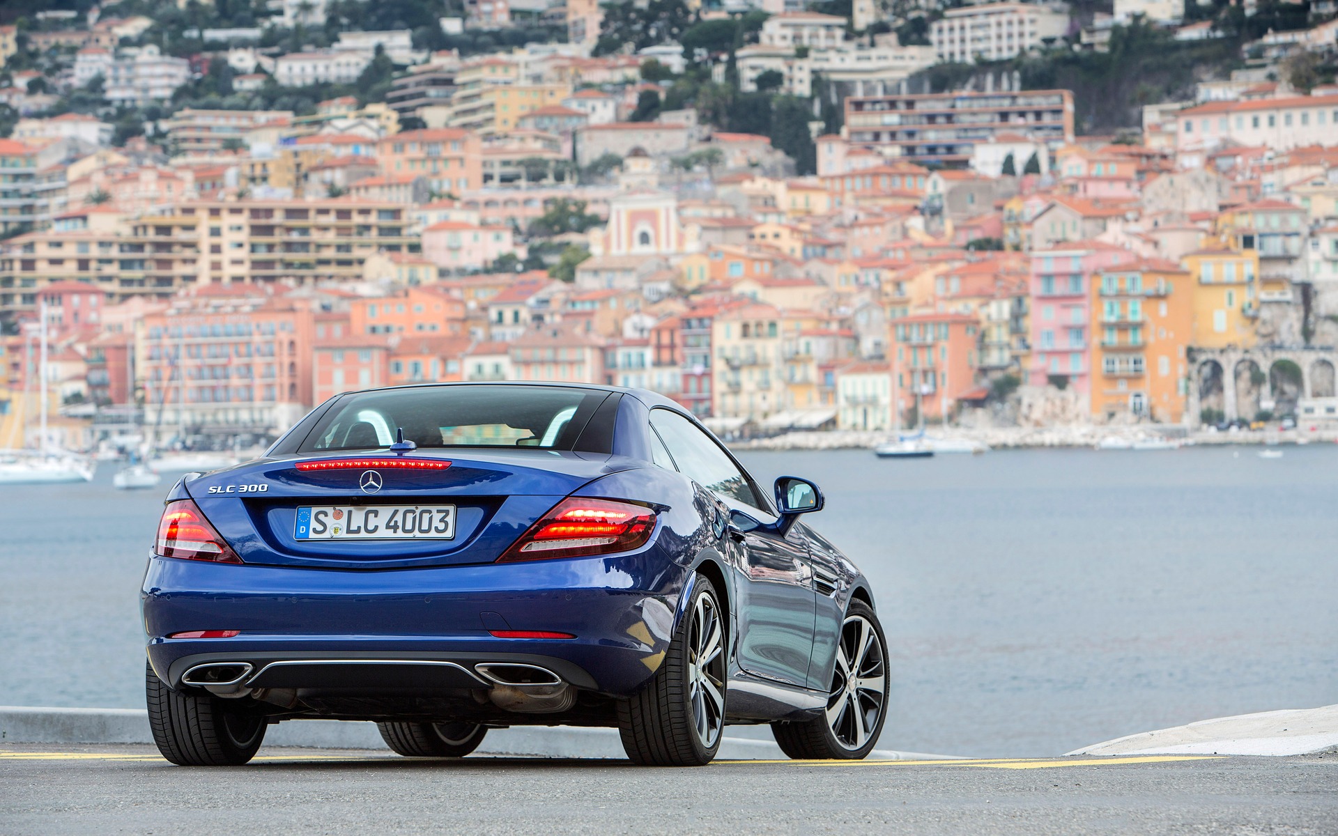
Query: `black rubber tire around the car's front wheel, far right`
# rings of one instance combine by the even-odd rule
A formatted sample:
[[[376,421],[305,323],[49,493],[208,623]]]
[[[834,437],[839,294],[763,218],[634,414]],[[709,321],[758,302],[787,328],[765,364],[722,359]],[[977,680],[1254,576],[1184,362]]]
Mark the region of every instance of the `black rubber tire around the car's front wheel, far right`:
[[[850,692],[846,688],[847,675],[842,670],[842,659],[850,651],[848,633],[852,619],[863,619],[876,639],[876,665],[862,665],[863,680],[882,677],[880,701],[876,706],[876,717],[868,717],[872,708],[872,689],[854,689],[855,700],[850,701]],[[867,653],[871,653],[867,651]],[[832,688],[827,698],[827,709],[822,716],[803,722],[773,722],[771,733],[776,737],[780,750],[788,757],[804,761],[819,760],[860,760],[867,757],[878,742],[878,736],[883,730],[883,721],[887,720],[887,690],[890,674],[887,667],[887,639],[883,637],[883,626],[878,622],[878,615],[863,601],[852,601],[846,610],[842,623],[842,641],[838,647],[838,661],[832,670]],[[860,706],[858,713],[850,712],[852,706]],[[832,714],[836,720],[832,720]],[[856,728],[854,724],[859,724]],[[834,728],[835,726],[835,728]],[[859,736],[864,740],[859,744]],[[856,745],[858,744],[858,745]]]

